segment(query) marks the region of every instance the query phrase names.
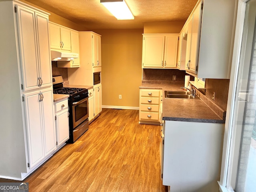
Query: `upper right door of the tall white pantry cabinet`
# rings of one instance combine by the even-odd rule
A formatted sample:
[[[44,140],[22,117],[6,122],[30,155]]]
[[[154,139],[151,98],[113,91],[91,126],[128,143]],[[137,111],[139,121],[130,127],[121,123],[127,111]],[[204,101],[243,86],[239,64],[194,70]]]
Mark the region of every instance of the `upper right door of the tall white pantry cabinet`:
[[[36,13],[36,28],[38,33],[38,60],[40,66],[41,87],[52,85],[52,62],[48,34],[48,17]]]

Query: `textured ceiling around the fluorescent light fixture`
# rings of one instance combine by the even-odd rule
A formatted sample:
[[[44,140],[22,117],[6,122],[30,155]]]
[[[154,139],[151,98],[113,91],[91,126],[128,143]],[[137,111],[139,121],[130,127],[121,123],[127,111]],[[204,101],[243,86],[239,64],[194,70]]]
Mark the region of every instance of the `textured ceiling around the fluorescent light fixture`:
[[[92,29],[143,28],[146,22],[186,21],[198,0],[125,0],[134,20],[117,20],[100,0],[26,0]]]

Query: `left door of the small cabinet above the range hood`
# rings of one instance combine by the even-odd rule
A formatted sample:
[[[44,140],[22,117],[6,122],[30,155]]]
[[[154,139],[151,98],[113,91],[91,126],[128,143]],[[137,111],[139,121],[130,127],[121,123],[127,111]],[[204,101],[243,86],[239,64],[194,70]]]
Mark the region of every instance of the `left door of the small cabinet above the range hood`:
[[[60,40],[60,26],[49,23],[50,28],[50,47],[51,49],[61,48],[61,40]]]

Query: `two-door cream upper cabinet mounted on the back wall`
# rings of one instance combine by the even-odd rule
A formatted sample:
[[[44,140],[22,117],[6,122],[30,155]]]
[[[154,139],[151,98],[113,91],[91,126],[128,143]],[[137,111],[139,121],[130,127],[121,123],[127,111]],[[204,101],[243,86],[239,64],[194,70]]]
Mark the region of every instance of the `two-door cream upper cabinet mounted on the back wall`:
[[[143,34],[142,68],[176,68],[178,34]]]

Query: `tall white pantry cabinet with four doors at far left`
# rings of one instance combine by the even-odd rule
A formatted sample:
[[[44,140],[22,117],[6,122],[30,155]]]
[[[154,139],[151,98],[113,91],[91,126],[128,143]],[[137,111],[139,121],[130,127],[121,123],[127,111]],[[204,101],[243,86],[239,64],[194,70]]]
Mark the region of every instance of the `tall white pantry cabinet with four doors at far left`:
[[[48,13],[0,0],[0,177],[23,180],[56,150]]]

